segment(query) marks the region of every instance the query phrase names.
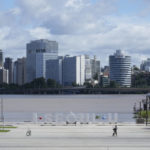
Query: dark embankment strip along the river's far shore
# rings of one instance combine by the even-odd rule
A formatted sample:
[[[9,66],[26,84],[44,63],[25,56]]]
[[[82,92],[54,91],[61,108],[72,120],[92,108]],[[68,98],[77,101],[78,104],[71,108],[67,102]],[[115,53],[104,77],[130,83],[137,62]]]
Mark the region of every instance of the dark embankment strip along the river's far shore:
[[[69,87],[69,88],[44,88],[44,89],[0,89],[0,94],[147,94],[150,93],[150,88],[84,88],[84,87]]]

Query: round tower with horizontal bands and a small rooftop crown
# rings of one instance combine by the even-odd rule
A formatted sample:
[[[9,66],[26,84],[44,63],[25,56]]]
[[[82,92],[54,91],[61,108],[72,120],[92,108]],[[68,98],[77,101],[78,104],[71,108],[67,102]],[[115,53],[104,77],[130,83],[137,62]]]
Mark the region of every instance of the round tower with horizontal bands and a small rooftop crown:
[[[109,56],[109,65],[110,80],[116,81],[120,87],[131,87],[131,57],[117,50]]]

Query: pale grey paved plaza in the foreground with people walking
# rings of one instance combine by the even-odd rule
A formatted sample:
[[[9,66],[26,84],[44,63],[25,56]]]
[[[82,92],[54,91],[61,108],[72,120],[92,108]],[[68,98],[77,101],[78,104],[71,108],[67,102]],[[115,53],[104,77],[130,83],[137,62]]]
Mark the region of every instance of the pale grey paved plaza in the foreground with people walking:
[[[32,135],[27,137],[30,128]],[[23,124],[0,133],[0,150],[149,150],[150,127],[118,126],[112,137],[111,125],[40,126]]]

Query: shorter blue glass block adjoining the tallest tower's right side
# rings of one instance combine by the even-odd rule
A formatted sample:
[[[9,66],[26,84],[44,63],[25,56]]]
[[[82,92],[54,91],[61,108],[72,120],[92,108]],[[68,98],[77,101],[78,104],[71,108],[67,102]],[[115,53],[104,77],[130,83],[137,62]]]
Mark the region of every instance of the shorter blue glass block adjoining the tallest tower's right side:
[[[62,82],[63,58],[48,60],[46,62],[46,79],[53,79],[59,84]]]

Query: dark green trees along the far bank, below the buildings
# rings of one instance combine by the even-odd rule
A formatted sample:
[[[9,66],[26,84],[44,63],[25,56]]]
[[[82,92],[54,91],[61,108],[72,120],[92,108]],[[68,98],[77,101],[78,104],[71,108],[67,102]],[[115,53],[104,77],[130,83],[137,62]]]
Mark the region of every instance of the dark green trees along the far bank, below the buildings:
[[[75,82],[72,83],[72,87],[79,87],[80,85]],[[43,89],[43,88],[62,88],[63,86],[53,79],[44,79],[43,77],[34,79],[30,83],[24,85],[17,84],[0,84],[0,88],[4,89]],[[107,87],[102,87],[101,84],[93,84],[92,82],[86,81],[84,83],[85,88],[119,88],[119,84],[115,81],[110,81]],[[141,72],[132,75],[132,88],[150,88],[150,73]]]

